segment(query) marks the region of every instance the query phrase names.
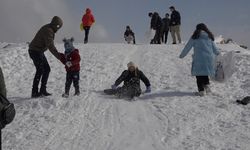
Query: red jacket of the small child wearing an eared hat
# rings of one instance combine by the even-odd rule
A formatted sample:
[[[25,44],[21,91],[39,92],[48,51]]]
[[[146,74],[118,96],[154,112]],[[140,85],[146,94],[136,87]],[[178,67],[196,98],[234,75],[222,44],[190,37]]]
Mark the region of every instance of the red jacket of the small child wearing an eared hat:
[[[65,65],[65,69],[67,72],[76,72],[76,71],[80,71],[80,61],[81,61],[81,57],[79,55],[79,50],[78,49],[74,49],[70,54],[65,55],[65,54],[61,54],[63,56],[61,56],[61,62]],[[66,65],[66,62],[70,61],[72,63],[71,67],[68,67]]]

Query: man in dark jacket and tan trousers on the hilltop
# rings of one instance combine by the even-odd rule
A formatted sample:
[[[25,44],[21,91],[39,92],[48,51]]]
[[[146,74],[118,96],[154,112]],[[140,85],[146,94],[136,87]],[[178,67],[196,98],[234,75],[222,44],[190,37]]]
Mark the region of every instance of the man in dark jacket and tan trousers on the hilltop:
[[[178,38],[179,43],[181,43],[181,35],[180,35],[180,26],[181,26],[181,15],[175,10],[174,6],[169,7],[171,13],[170,16],[170,32],[173,39],[173,44],[176,44],[176,36]]]

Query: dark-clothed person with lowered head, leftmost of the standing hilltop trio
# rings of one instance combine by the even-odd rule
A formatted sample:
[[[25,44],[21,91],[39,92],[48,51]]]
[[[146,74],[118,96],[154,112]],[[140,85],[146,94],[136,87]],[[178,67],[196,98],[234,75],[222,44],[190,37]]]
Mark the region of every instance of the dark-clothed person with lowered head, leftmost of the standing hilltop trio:
[[[162,20],[157,12],[149,13],[151,17],[150,28],[155,30],[155,36],[151,40],[151,44],[161,44]]]

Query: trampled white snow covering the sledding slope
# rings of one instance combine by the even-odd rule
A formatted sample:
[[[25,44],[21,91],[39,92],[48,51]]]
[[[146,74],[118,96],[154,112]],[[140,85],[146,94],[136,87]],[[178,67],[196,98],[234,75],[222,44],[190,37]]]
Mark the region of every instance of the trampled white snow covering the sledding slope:
[[[3,129],[8,150],[247,150],[250,107],[234,101],[250,95],[250,51],[235,44],[236,72],[225,83],[211,82],[213,93],[194,96],[191,54],[178,56],[184,45],[75,44],[80,50],[81,95],[62,98],[66,73],[50,52],[48,91],[31,99],[35,68],[26,44],[0,44],[0,65],[15,120]],[[56,47],[63,51],[63,45]],[[103,94],[134,61],[150,79],[152,93],[135,101]],[[143,90],[145,86],[141,83]]]

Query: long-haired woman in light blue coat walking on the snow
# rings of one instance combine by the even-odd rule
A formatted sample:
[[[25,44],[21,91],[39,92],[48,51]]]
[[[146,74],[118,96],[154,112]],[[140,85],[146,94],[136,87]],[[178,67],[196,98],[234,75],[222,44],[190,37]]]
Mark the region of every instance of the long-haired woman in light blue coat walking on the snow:
[[[192,47],[194,48],[194,54],[191,73],[193,76],[196,76],[199,91],[197,94],[204,96],[205,92],[211,92],[209,76],[213,77],[215,75],[215,55],[219,55],[219,51],[214,43],[214,36],[205,24],[200,23],[196,26],[196,30],[179,57],[184,58]]]

